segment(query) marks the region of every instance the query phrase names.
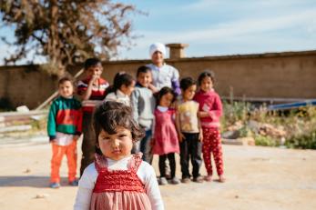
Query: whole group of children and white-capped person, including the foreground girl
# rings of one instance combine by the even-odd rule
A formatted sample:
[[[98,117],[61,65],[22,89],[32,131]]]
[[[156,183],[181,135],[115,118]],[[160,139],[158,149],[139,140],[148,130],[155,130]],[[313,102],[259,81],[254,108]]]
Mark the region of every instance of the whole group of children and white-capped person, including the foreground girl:
[[[152,64],[140,66],[136,79],[119,72],[113,85],[101,78],[100,61],[87,59],[87,79],[77,85],[81,104],[73,96],[70,79],[58,83],[60,96],[51,106],[47,125],[53,148],[50,185],[60,186],[58,171],[64,154],[69,184],[78,185],[76,140],[82,132],[75,209],[163,209],[158,184],[167,185],[168,178],[171,184],[180,182],[176,153],[182,183],[189,183],[191,177],[198,183],[211,181],[211,154],[219,182],[225,181],[219,135],[222,107],[213,89],[213,73],[202,73],[198,83],[191,77],[179,83],[178,70],[164,63],[164,45],[151,45],[149,55]],[[208,172],[205,177],[199,174],[201,152]],[[159,157],[158,182],[151,166],[153,155]]]

